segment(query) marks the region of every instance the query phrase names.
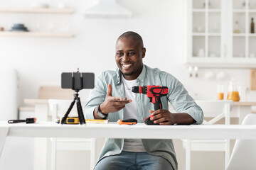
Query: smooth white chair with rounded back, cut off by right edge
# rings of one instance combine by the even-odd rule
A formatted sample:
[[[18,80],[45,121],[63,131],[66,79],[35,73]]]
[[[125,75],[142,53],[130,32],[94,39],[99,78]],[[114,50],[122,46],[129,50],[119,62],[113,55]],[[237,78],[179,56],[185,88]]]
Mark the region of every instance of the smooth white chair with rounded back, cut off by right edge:
[[[256,125],[256,114],[246,115],[242,125]],[[256,169],[256,140],[236,140],[226,170]]]

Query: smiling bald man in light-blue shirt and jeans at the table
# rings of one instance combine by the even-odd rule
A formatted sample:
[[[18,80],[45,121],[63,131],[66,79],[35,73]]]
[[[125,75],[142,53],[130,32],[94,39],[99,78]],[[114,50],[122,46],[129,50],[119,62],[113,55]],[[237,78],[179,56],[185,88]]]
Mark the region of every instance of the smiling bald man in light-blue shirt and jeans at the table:
[[[152,114],[151,120],[160,125],[201,124],[203,111],[183,85],[171,74],[143,64],[145,54],[139,34],[127,32],[119,36],[115,54],[118,68],[102,72],[96,79],[85,106],[85,118],[107,118],[112,122],[135,118],[143,123]],[[161,97],[163,109],[154,111],[146,95],[127,90],[146,85],[169,88],[169,94]],[[168,101],[178,113],[169,112]],[[172,140],[107,139],[95,169],[177,169],[174,145]]]

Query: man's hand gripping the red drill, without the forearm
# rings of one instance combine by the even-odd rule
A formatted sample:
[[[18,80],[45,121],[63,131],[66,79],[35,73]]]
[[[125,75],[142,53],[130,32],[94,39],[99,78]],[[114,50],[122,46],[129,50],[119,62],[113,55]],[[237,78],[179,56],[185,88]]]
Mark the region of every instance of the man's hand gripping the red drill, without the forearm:
[[[153,115],[150,120],[154,120],[155,124],[159,125],[174,125],[175,123],[175,113],[171,113],[165,109],[159,109],[156,111],[149,111]]]

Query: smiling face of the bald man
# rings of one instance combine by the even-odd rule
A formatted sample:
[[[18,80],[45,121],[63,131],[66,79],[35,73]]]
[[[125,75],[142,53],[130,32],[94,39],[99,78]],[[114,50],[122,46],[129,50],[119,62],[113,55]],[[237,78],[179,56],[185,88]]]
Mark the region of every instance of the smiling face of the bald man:
[[[142,72],[146,49],[134,38],[119,38],[116,44],[115,60],[124,78],[137,79]]]

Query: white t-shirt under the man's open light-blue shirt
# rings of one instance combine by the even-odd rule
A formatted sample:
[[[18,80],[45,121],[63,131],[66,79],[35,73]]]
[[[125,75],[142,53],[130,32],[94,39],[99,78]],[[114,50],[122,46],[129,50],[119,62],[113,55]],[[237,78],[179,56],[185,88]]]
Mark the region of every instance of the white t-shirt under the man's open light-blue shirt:
[[[124,120],[134,118],[138,120],[138,113],[137,113],[137,102],[135,98],[135,94],[131,90],[132,86],[137,86],[136,79],[134,80],[127,80],[124,79],[122,76],[122,81],[124,83],[125,89],[125,97],[127,99],[131,99],[132,102],[128,103],[124,107]],[[123,151],[127,152],[146,152],[144,145],[141,139],[124,139],[124,148]]]

